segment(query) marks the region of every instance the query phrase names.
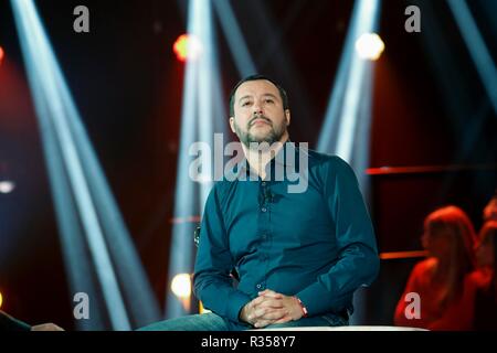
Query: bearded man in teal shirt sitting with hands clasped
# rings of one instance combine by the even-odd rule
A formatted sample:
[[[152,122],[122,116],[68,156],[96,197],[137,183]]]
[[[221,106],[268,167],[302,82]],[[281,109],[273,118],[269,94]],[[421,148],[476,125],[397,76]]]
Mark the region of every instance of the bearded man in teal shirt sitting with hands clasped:
[[[289,124],[286,93],[272,79],[250,76],[234,87],[230,126],[248,164],[235,173],[256,178],[218,182],[205,204],[193,281],[212,312],[145,330],[348,324],[355,290],[369,286],[379,269],[371,221],[351,168],[296,148]],[[296,154],[295,163],[278,158],[288,154]],[[288,192],[288,174],[275,180],[275,170],[303,169],[302,160],[307,189]]]

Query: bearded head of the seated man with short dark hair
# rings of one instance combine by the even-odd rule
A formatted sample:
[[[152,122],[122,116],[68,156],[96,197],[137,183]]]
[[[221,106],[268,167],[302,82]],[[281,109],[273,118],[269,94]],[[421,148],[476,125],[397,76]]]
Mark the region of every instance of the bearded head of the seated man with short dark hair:
[[[283,108],[279,90],[271,82],[250,81],[236,89],[230,126],[246,147],[286,140],[289,119],[289,110]]]

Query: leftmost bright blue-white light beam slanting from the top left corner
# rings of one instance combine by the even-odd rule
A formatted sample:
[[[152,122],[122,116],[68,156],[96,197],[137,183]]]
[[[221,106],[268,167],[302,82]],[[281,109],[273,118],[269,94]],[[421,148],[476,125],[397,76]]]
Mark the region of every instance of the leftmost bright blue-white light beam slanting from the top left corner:
[[[51,49],[41,19],[31,0],[11,0],[14,19],[28,67],[29,81],[38,116],[50,121],[54,128],[56,142],[60,143],[65,173],[68,178],[76,208],[86,235],[95,270],[105,298],[110,323],[114,330],[129,330],[130,323],[113,269],[110,257],[98,222],[89,186],[67,122],[67,106],[64,101],[55,77],[59,64]],[[68,96],[68,94],[66,95]],[[42,132],[44,132],[42,130]],[[44,147],[46,150],[47,147]],[[47,156],[47,151],[45,151]],[[47,165],[53,165],[47,163]],[[54,173],[60,172],[54,170]],[[61,175],[62,176],[62,175]],[[52,182],[52,185],[55,185]],[[56,186],[56,185],[55,185]],[[55,194],[55,193],[54,193]],[[74,225],[76,226],[76,225]],[[71,227],[61,226],[61,231]],[[71,235],[65,234],[67,239]],[[68,242],[67,242],[68,243]],[[67,243],[65,243],[67,245]],[[65,252],[70,252],[65,249]],[[68,256],[66,255],[66,258]],[[68,266],[72,269],[71,266]],[[76,277],[74,277],[76,278]]]

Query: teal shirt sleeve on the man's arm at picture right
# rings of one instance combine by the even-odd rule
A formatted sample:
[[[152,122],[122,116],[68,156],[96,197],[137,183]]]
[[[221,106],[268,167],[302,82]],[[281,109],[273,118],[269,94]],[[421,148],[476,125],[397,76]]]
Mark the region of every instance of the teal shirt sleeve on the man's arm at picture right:
[[[309,315],[346,309],[356,289],[376,279],[380,265],[371,218],[356,174],[338,157],[330,158],[322,168],[324,196],[339,252],[330,270],[296,295]]]

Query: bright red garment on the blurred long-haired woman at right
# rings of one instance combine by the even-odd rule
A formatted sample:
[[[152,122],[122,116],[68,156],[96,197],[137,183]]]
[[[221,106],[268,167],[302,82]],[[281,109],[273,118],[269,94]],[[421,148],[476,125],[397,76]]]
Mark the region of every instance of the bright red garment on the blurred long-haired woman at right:
[[[395,309],[394,323],[401,327],[414,327],[429,330],[462,331],[473,329],[474,301],[480,276],[472,272],[464,278],[464,290],[458,299],[448,302],[445,308],[438,304],[444,287],[432,280],[436,259],[427,258],[419,263],[411,272],[404,293]],[[421,299],[421,318],[408,319],[404,314],[409,292],[416,292]]]

